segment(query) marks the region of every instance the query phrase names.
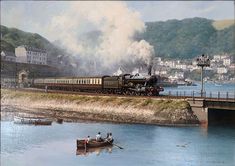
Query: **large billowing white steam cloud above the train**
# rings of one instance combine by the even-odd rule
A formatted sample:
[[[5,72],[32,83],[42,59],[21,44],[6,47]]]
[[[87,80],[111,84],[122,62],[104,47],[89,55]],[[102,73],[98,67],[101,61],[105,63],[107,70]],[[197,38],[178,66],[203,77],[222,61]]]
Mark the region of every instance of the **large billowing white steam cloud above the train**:
[[[134,35],[145,30],[136,11],[124,2],[71,2],[71,7],[52,19],[49,29],[75,56],[83,70],[110,73],[125,62],[141,61],[148,65],[153,47]],[[90,39],[82,33],[98,31]]]

